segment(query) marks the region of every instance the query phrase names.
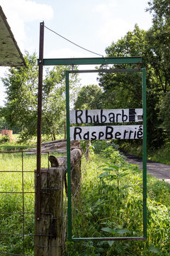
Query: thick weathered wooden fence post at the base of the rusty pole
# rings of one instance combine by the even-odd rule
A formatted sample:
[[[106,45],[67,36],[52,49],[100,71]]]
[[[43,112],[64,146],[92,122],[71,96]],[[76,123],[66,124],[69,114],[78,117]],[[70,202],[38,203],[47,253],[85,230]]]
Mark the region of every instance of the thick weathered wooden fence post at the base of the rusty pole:
[[[40,220],[35,214],[34,256],[62,256],[64,167],[42,169],[40,181]]]

